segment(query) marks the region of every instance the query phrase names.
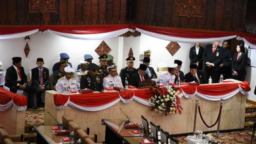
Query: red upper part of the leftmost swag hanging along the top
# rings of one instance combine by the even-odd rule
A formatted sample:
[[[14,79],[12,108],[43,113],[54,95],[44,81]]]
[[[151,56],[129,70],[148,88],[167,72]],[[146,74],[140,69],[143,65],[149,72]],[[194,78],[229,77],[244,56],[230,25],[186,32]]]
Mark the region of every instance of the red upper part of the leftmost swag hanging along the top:
[[[23,33],[34,29],[39,29],[39,26],[2,26],[0,27],[0,35]]]

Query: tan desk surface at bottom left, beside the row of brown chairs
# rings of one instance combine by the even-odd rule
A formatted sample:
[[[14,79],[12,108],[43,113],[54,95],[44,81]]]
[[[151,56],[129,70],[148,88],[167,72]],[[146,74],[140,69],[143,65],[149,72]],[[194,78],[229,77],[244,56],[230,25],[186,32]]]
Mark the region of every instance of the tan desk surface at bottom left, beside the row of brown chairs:
[[[35,130],[37,130],[37,144],[45,144],[45,143],[60,143],[62,144],[62,137],[66,137],[67,135],[55,135],[53,134],[53,126],[34,126]]]

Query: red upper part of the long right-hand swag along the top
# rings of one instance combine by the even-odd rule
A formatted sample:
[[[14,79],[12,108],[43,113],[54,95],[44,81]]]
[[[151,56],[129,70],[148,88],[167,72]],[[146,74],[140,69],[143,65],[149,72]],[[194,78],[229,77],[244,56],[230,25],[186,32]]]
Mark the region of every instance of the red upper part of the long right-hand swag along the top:
[[[200,30],[200,29],[179,29],[179,28],[171,28],[171,27],[139,26],[139,25],[136,25],[135,27],[145,31],[150,31],[153,33],[161,34],[161,35],[167,35],[170,37],[184,37],[184,38],[193,38],[193,39],[226,37],[230,35],[237,35],[237,33],[235,32],[228,32],[228,31],[207,31],[207,30]]]

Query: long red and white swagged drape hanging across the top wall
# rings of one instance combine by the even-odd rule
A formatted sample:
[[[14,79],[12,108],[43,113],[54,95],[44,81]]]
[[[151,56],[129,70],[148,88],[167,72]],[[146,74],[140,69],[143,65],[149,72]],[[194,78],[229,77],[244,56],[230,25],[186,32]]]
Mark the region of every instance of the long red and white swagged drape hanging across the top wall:
[[[127,31],[139,31],[145,35],[181,43],[210,43],[226,39],[245,41],[252,48],[256,48],[256,35],[228,31],[207,31],[200,29],[179,29],[171,27],[140,26],[140,25],[88,25],[88,26],[9,26],[0,27],[0,39],[17,39],[32,35],[37,31],[49,31],[61,37],[70,39],[109,39],[117,37]]]

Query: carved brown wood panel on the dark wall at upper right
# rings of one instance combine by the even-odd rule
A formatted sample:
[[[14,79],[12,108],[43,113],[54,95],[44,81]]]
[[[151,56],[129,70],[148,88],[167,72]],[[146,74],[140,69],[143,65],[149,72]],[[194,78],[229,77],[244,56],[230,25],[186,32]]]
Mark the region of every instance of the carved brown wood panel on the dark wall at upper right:
[[[175,0],[175,15],[203,17],[206,0]]]

